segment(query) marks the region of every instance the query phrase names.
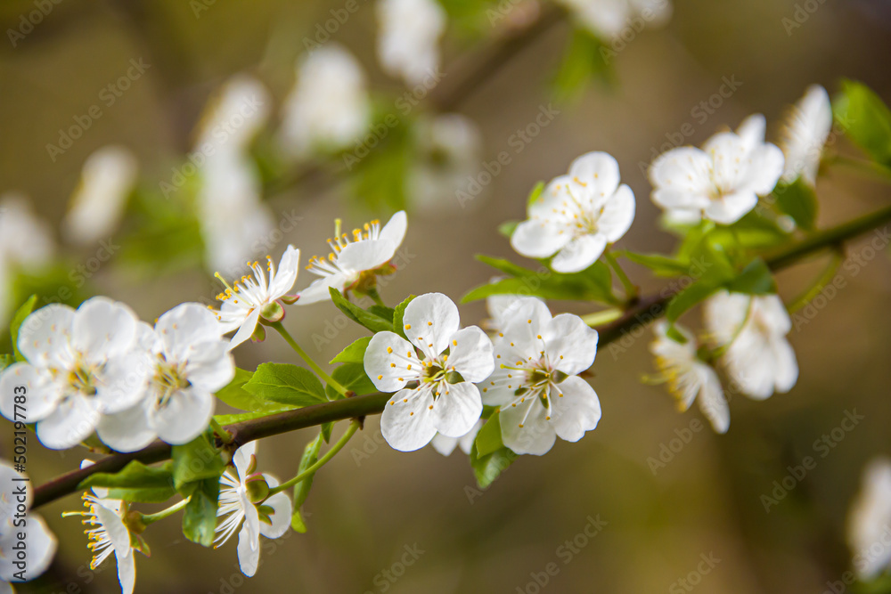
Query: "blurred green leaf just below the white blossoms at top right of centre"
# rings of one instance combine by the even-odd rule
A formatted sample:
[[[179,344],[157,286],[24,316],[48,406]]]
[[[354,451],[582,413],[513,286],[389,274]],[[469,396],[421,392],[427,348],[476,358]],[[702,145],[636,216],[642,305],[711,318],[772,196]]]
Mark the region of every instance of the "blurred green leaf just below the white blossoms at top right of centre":
[[[573,29],[553,90],[562,101],[576,99],[593,80],[610,82],[614,77],[609,65],[612,50],[584,27]]]

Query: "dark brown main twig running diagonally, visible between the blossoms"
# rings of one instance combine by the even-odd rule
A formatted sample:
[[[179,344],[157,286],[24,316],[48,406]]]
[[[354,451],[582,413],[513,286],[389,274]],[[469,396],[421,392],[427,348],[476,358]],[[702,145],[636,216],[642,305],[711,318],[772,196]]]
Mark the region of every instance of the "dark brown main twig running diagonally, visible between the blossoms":
[[[891,222],[891,207],[885,207],[848,223],[822,232],[815,232],[805,240],[798,241],[789,248],[767,258],[767,264],[774,271],[781,270],[792,264],[797,264],[805,257],[823,249],[838,248],[844,242],[853,240],[863,233],[870,232],[889,222]],[[621,338],[639,324],[646,325],[661,317],[665,313],[668,301],[674,297],[674,292],[674,290],[666,289],[657,295],[638,299],[621,318],[598,329],[600,331],[600,346]],[[383,411],[389,397],[388,394],[353,396],[330,403],[314,404],[294,411],[279,412],[260,419],[242,421],[229,425],[225,429],[233,436],[232,447],[239,447],[261,437],[280,435],[331,421],[359,419],[365,415],[377,414]],[[38,508],[69,493],[77,492],[78,484],[94,473],[118,472],[132,460],[139,460],[143,464],[152,464],[168,460],[170,455],[170,445],[160,441],[151,443],[139,452],[114,454],[93,466],[69,472],[37,487],[34,493],[33,507]]]

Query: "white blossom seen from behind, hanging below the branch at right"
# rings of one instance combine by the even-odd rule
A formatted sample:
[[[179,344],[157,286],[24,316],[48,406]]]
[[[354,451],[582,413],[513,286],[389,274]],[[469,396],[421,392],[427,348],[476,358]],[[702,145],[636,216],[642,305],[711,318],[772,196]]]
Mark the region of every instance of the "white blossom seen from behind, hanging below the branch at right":
[[[798,363],[786,339],[792,322],[780,297],[721,290],[707,299],[703,315],[715,346],[724,349],[728,375],[744,394],[763,400],[795,386]]]

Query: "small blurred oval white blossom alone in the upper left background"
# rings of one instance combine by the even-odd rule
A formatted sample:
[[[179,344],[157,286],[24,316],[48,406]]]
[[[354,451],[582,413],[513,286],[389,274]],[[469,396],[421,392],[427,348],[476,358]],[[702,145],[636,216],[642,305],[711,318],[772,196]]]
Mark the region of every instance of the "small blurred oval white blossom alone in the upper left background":
[[[121,146],[102,147],[86,159],[78,189],[62,220],[71,240],[92,243],[108,239],[124,215],[138,169],[133,153]]]

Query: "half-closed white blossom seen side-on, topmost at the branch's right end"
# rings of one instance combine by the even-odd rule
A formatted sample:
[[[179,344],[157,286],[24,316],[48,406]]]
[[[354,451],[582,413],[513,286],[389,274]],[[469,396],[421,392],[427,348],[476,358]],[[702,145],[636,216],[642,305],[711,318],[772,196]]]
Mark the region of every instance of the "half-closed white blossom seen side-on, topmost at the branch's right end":
[[[789,113],[780,147],[786,155],[782,180],[792,183],[800,175],[813,186],[823,145],[832,130],[830,94],[820,85],[811,85]]]

